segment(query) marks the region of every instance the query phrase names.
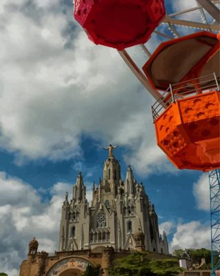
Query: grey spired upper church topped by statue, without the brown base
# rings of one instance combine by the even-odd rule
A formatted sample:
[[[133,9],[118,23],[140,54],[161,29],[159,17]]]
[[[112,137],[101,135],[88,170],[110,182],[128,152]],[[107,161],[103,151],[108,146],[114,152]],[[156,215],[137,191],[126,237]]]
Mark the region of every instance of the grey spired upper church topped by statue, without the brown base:
[[[131,166],[121,179],[121,166],[108,148],[103,179],[92,187],[92,203],[86,199],[81,172],[73,186],[72,198],[63,201],[59,250],[149,250],[168,254],[166,233],[159,234],[157,213],[143,184],[137,183]],[[143,241],[137,241],[142,235]]]

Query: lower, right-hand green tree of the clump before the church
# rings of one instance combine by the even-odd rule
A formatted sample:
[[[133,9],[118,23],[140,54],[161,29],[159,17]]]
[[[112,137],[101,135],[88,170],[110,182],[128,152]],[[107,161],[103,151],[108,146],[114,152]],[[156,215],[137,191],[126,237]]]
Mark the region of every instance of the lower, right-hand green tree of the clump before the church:
[[[150,262],[150,270],[158,276],[178,275],[184,269],[179,267],[177,259],[154,259]]]

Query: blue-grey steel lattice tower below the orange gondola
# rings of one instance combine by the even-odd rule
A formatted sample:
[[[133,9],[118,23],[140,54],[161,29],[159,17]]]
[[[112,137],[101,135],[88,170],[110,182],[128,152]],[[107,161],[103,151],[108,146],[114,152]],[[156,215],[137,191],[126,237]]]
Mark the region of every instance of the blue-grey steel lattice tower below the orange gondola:
[[[210,182],[210,225],[212,250],[212,276],[220,270],[220,170],[208,173]]]

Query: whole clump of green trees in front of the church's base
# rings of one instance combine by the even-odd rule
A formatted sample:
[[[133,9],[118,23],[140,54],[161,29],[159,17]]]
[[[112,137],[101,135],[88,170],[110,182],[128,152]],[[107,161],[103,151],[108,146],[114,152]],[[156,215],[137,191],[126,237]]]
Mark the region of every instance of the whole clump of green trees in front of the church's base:
[[[183,271],[177,259],[150,261],[148,254],[146,252],[133,253],[117,259],[108,270],[109,276],[172,276]]]

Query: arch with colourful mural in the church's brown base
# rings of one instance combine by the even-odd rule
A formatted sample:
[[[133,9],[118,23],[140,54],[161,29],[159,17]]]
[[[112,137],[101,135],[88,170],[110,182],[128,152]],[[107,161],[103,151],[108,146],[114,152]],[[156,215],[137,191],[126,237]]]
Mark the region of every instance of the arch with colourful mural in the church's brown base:
[[[45,276],[81,276],[88,265],[94,265],[84,257],[65,257],[56,262]]]

